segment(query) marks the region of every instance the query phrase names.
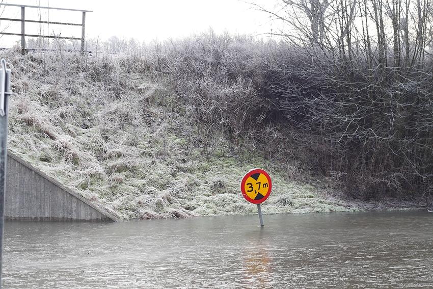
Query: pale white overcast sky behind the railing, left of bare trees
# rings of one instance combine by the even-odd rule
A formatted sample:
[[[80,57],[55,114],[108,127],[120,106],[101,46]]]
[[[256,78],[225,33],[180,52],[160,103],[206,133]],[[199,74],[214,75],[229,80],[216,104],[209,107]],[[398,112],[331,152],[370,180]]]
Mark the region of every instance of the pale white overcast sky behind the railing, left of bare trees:
[[[261,5],[273,6],[274,0],[255,0]],[[49,7],[92,10],[86,15],[86,36],[107,39],[111,36],[120,38],[136,38],[149,42],[155,38],[164,40],[178,38],[192,33],[207,31],[212,28],[220,33],[247,33],[263,35],[272,29],[272,21],[263,12],[256,11],[251,4],[242,0],[4,0],[9,4],[39,5]],[[2,6],[2,8],[5,6]],[[40,13],[40,15],[39,15]],[[2,17],[20,18],[19,7],[5,7]],[[67,21],[80,23],[80,12],[40,10],[27,8],[26,19],[50,21]],[[20,33],[19,22],[2,21],[0,30],[10,33]],[[27,34],[43,33],[62,34],[62,36],[80,37],[80,27],[65,28],[59,25],[42,25],[26,23]],[[3,36],[2,45],[19,41],[19,36]]]

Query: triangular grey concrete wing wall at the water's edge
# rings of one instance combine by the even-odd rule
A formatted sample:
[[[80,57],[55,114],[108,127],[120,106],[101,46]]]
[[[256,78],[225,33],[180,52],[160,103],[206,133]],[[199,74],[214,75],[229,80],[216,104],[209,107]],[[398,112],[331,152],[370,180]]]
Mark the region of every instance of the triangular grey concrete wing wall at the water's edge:
[[[116,221],[114,216],[9,151],[5,219]]]

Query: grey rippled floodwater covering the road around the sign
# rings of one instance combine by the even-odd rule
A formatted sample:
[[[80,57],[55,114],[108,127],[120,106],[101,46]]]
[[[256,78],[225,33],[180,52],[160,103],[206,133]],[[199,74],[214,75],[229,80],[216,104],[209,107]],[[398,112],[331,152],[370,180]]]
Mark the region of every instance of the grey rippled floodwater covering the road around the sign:
[[[433,213],[6,222],[4,288],[433,286]]]

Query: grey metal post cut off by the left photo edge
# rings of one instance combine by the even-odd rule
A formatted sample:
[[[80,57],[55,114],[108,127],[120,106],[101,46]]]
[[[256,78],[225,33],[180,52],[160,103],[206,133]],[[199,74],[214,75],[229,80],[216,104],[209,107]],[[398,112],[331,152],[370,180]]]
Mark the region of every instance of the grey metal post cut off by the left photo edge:
[[[6,160],[8,157],[8,101],[10,95],[11,70],[2,59],[0,69],[0,288],[2,287],[3,227],[5,217]]]

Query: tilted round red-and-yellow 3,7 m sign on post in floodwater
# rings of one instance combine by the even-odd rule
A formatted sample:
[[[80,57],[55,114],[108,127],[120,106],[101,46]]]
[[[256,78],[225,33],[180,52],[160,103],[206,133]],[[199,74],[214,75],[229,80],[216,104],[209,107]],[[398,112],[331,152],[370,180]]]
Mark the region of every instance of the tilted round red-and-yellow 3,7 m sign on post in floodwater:
[[[242,196],[250,203],[257,204],[260,226],[263,227],[263,216],[260,204],[270,195],[272,180],[269,174],[262,169],[254,169],[243,176],[240,182]]]

